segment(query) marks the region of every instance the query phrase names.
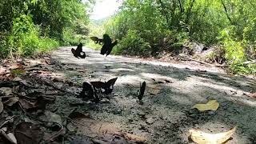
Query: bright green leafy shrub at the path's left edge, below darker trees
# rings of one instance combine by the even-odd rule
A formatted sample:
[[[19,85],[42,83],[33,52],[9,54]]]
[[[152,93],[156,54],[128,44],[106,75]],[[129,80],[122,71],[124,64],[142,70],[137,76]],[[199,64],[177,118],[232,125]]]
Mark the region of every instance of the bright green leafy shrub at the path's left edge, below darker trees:
[[[57,41],[50,38],[39,38],[40,27],[34,25],[31,15],[21,14],[14,18],[10,34],[2,34],[0,54],[2,58],[24,57],[47,52],[58,47]]]

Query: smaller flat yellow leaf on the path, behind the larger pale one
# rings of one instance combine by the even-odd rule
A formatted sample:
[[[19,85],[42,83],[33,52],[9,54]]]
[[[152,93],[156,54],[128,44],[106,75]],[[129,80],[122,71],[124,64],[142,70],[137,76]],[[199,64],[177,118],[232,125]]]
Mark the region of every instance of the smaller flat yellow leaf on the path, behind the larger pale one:
[[[200,111],[206,111],[206,110],[217,110],[219,106],[219,103],[217,100],[210,100],[206,104],[195,104],[192,108],[196,108]]]

